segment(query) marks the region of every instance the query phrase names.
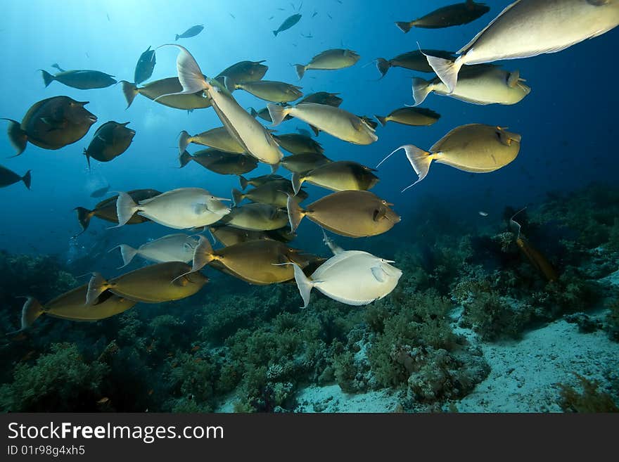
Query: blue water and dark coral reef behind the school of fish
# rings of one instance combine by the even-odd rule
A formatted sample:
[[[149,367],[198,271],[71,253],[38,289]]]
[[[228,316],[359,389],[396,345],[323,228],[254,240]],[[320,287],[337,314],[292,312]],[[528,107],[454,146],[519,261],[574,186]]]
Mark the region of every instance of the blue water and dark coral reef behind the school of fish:
[[[96,189],[200,187],[230,198],[231,188],[238,188],[238,177],[196,162],[179,169],[179,131],[194,134],[221,125],[210,108],[188,113],[140,95],[127,108],[120,84],[45,87],[39,69],[51,72],[58,63],[132,81],[136,60],[148,46],[174,43],[175,34],[203,24],[200,34],[177,43],[191,51],[205,75],[240,60],[265,60],[265,79],[298,84],[304,94],[336,92],[341,108],[374,117],[413,104],[411,77],[429,76],[394,67],[379,79],[376,58],[393,58],[418,44],[456,51],[508,4],[487,0],[489,13],[457,27],[403,34],[394,25],[450,3],[6,1],[0,18],[0,117],[21,120],[35,102],[66,95],[89,101],[87,109],[98,122],[65,148],[29,144],[15,158],[8,158],[15,151],[8,136],[0,136],[1,165],[20,175],[32,169],[31,191],[23,184],[0,190],[1,331],[19,328],[23,300],[17,297],[34,295],[44,302],[87,282],[83,275],[91,271],[121,274],[119,255],[108,250],[170,233],[152,222],[108,229],[108,222],[93,219],[75,237],[81,229],[73,209],[94,207],[103,199],[91,197]],[[302,14],[299,23],[274,36],[295,13]],[[331,237],[347,250],[395,260],[403,276],[383,300],[352,307],[314,291],[309,307],[300,309],[294,283],[253,286],[208,268],[210,282],[185,300],[137,304],[95,323],[42,316],[23,335],[6,338],[0,409],[616,411],[618,43],[619,31],[611,30],[560,53],[502,62],[506,70],[519,70],[532,89],[515,105],[473,105],[430,94],[423,107],[441,115],[430,127],[388,123],[376,129],[378,141],[369,146],[324,133],[315,138],[333,160],[376,167],[399,146],[427,150],[461,124],[509,127],[522,135],[518,158],[502,169],[471,174],[437,164],[404,193],[416,179],[404,154],[381,165],[376,172],[381,181],[372,191],[394,204],[402,222],[381,236]],[[361,59],[341,70],[309,70],[298,82],[293,64],[332,48],[355,50]],[[158,50],[150,80],[176,75],[176,57],[171,47]],[[244,108],[265,105],[244,91],[234,97]],[[91,161],[89,169],[82,151],[108,120],[130,122],[134,141],[112,162]],[[293,119],[276,129],[294,133],[307,124]],[[260,164],[245,176],[267,173],[268,166]],[[306,190],[306,203],[328,193],[310,185]],[[507,219],[525,206],[518,215],[523,233],[556,268],[558,281],[548,282],[532,267],[509,232]],[[319,226],[309,220],[291,245],[330,255]],[[143,264],[136,257],[127,269]],[[523,385],[540,374],[534,359],[513,359],[513,366],[499,371],[490,357],[498,354],[497,345],[507,345],[517,358],[527,335],[553,326],[559,331],[547,335],[556,337],[537,344],[543,345],[538,361],[549,367],[547,383]],[[553,355],[564,361],[554,364]],[[579,357],[582,361],[574,359]],[[508,373],[510,368],[515,371]],[[509,376],[520,378],[510,382]],[[513,387],[512,407],[487,405],[488,380],[499,379]],[[519,388],[540,399],[518,401]],[[477,401],[464,402],[471,394]],[[347,400],[354,405],[345,406]]]

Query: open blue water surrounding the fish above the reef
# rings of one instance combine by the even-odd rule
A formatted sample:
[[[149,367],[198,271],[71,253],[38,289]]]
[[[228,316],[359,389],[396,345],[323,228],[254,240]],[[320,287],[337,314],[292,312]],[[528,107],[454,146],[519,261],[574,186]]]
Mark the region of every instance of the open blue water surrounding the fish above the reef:
[[[0,157],[3,158],[0,164],[18,174],[32,169],[31,191],[27,191],[23,184],[0,189],[3,205],[0,250],[11,254],[56,255],[61,264],[71,264],[75,259],[85,257],[87,263],[79,266],[80,273],[101,271],[106,276],[115,276],[122,272],[117,269],[120,257],[116,252],[108,254],[107,250],[121,243],[137,247],[147,240],[175,231],[152,222],[109,229],[112,224],[94,217],[87,231],[75,237],[81,229],[73,209],[90,209],[103,199],[91,198],[93,191],[106,184],[110,186],[109,195],[113,191],[138,188],[169,191],[174,188],[199,187],[219,197],[231,198],[231,188],[239,186],[238,177],[215,174],[196,162],[190,162],[179,169],[179,132],[186,130],[189,134],[198,134],[221,126],[211,108],[192,112],[177,110],[141,95],[136,96],[127,108],[120,84],[91,90],[72,89],[59,82],[52,82],[45,87],[40,69],[55,73],[51,65],[58,63],[66,70],[100,70],[114,75],[119,81],[132,81],[136,61],[148,46],[155,48],[178,43],[192,53],[201,70],[209,77],[214,77],[224,68],[241,60],[264,60],[264,64],[269,67],[264,79],[297,84],[302,86],[304,94],[315,91],[338,93],[343,98],[340,108],[357,115],[387,115],[396,108],[414,104],[411,95],[412,77],[430,79],[433,76],[393,67],[381,79],[376,69],[376,58],[393,58],[418,47],[457,51],[498,15],[509,1],[487,0],[485,3],[490,6],[489,13],[457,27],[435,30],[413,28],[404,34],[394,25],[395,21],[411,20],[452,3],[454,0],[6,1],[1,6],[3,14],[0,17],[0,34],[4,37],[4,46],[0,47],[0,62],[4,63],[4,72],[0,75],[0,117],[20,121],[28,108],[37,101],[65,95],[77,101],[89,101],[86,108],[98,117],[98,122],[84,138],[60,150],[44,150],[29,143],[25,152],[14,158],[10,158],[15,150],[8,136],[4,135],[4,131],[0,134]],[[295,13],[302,14],[300,22],[275,37],[272,31]],[[27,27],[24,26],[24,18],[27,18]],[[200,34],[174,42],[175,34],[181,34],[198,24],[205,26]],[[369,146],[357,146],[325,133],[319,134],[314,139],[324,147],[324,154],[328,158],[355,160],[369,167],[376,167],[386,155],[404,144],[414,144],[428,150],[449,130],[463,124],[483,123],[509,127],[509,131],[522,136],[518,157],[506,167],[487,174],[473,174],[433,163],[428,177],[404,193],[402,189],[415,181],[416,174],[400,150],[378,169],[376,174],[381,181],[372,192],[393,203],[393,209],[400,214],[402,222],[388,233],[373,238],[335,236],[338,244],[346,249],[371,249],[376,255],[388,259],[394,258],[397,252],[407,250],[423,253],[428,246],[434,245],[437,236],[423,235],[419,229],[437,211],[448,216],[449,223],[463,226],[463,233],[465,228],[470,231],[483,227],[489,233],[499,233],[504,228],[505,207],[518,210],[530,206],[534,209],[549,200],[549,197],[563,197],[588,184],[616,186],[619,166],[616,156],[616,108],[619,97],[614,83],[619,65],[614,56],[618,44],[619,30],[615,29],[560,53],[500,62],[506,70],[518,70],[532,89],[523,101],[515,105],[474,105],[430,94],[421,107],[430,108],[441,115],[440,120],[430,127],[409,127],[389,122],[385,127],[377,127],[378,141]],[[299,81],[294,64],[309,63],[312,56],[333,48],[352,49],[361,58],[350,68],[308,70]],[[176,76],[177,54],[178,50],[173,47],[158,49],[157,64],[147,82]],[[234,92],[234,98],[244,108],[258,109],[266,105],[266,102],[241,90]],[[91,160],[89,169],[82,151],[88,146],[96,129],[109,120],[130,122],[129,128],[136,131],[134,141],[125,153],[111,162]],[[0,121],[0,126],[5,123]],[[269,124],[265,125],[270,128]],[[295,133],[297,129],[307,129],[307,124],[293,119],[274,129],[276,134]],[[191,145],[188,150],[193,153],[202,148]],[[267,174],[269,170],[268,165],[260,164],[245,177]],[[289,175],[283,168],[278,173]],[[305,205],[331,192],[309,184],[304,186],[309,193]],[[487,215],[483,216],[480,211]],[[432,226],[430,230],[433,233],[441,232]],[[445,233],[452,235],[454,229],[445,230]],[[418,238],[427,238],[428,245],[412,241]],[[319,226],[307,219],[300,225],[298,236],[291,245],[326,257],[329,255],[322,242]],[[548,245],[546,242],[542,246]],[[513,253],[518,252],[514,250]],[[556,252],[556,255],[559,254]],[[427,259],[438,258],[436,255],[436,250],[428,250]],[[561,254],[561,257],[564,255]],[[416,258],[419,260],[415,260],[415,264],[418,261],[423,263],[426,256]],[[565,260],[568,258],[563,263]],[[576,266],[575,263],[573,265]],[[432,267],[432,264],[428,266]],[[608,264],[605,268],[608,271],[604,276],[616,270],[616,265],[612,269],[611,266]],[[131,269],[136,267],[134,263]],[[586,269],[582,271],[587,272]],[[79,275],[73,274],[76,277]],[[236,289],[241,294],[243,290],[249,290],[245,283],[229,276],[210,270],[209,277],[212,275],[209,290],[215,283],[221,284],[219,288],[226,296]],[[441,287],[438,289],[441,295],[453,297],[456,293],[454,287],[457,285],[457,276],[451,276],[451,292]],[[527,282],[523,286],[530,282],[524,279]],[[85,282],[84,279],[79,281]],[[530,289],[529,292],[533,293],[533,286],[537,290],[537,285],[546,282],[541,276],[540,281],[530,283],[523,290]],[[439,284],[440,281],[437,286]],[[271,288],[265,288],[264,293],[267,290]],[[409,294],[406,292],[408,286],[402,290]],[[315,292],[312,297],[317,297]],[[217,293],[217,290],[213,290],[213,293]],[[290,293],[298,296],[295,291]],[[210,293],[201,296],[199,300],[204,302]],[[268,295],[265,297],[268,298]],[[196,305],[200,302],[196,302]],[[188,303],[188,306],[192,306],[192,302]],[[295,307],[298,303],[300,298],[293,301]],[[347,308],[340,306],[338,309]],[[189,316],[178,312],[174,314]],[[9,315],[5,315],[8,319]],[[16,325],[18,312],[11,312],[10,316]],[[135,316],[143,316],[143,312]],[[80,347],[89,345],[92,340],[91,343],[96,342],[96,352],[101,352],[107,342],[115,338],[110,333],[116,326],[114,323],[131,322],[131,319],[115,319],[98,323],[98,327],[88,325],[84,328],[86,333],[83,338],[79,338],[79,341],[83,340]],[[191,338],[192,343],[198,338],[202,326],[194,327],[189,326],[189,322],[185,324],[187,336],[178,342],[183,348],[189,348],[185,345],[187,338]],[[144,328],[144,331],[148,331],[148,328]],[[82,335],[75,331],[72,334]],[[144,338],[148,335],[144,334]],[[353,336],[351,334],[350,338]],[[333,337],[337,338],[337,335]],[[78,342],[76,338],[71,340]],[[339,336],[339,340],[343,338],[345,335]],[[53,331],[49,342],[51,339],[55,342],[64,340],[58,331]],[[148,338],[150,341],[151,338]],[[345,340],[342,341],[345,343]],[[143,354],[143,345],[136,347],[136,350],[139,348],[142,348],[140,354]],[[191,349],[191,352],[195,351]],[[37,354],[42,352],[37,350]],[[167,357],[164,356],[166,353]],[[25,351],[20,354],[25,354]],[[163,368],[167,366],[165,361],[172,361],[168,359],[172,352],[158,354],[160,358],[148,363],[151,371],[159,372],[158,366]],[[28,357],[26,361],[32,362],[32,358]],[[143,361],[145,364],[148,362],[146,359]],[[166,370],[165,373],[170,371]],[[5,381],[8,383],[8,378]],[[157,386],[154,388],[157,396],[160,390]],[[108,396],[112,396],[112,391],[107,392]],[[134,397],[132,393],[127,394],[131,399]],[[154,401],[154,397],[149,398],[151,393],[152,389],[135,392],[141,399],[140,406],[149,399]],[[95,402],[94,399],[91,401]],[[125,407],[119,405],[116,409],[143,411],[147,407],[144,404],[144,409],[138,409],[137,404],[125,404]],[[172,408],[167,404],[167,407],[148,406],[151,406],[149,409],[165,411]],[[85,406],[84,409],[89,408]],[[264,410],[258,405],[255,409]]]

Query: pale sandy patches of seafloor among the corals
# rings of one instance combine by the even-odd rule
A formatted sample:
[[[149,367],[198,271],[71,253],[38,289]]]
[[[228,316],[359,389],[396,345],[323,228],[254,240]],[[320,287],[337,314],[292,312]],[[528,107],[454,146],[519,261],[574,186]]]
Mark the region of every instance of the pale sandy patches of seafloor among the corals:
[[[619,270],[601,281],[619,287]],[[459,412],[562,412],[559,383],[575,385],[574,373],[597,380],[604,390],[604,371],[619,372],[619,343],[604,331],[580,332],[576,323],[559,319],[527,331],[520,340],[483,342],[469,329],[457,327],[459,312],[454,309],[454,331],[478,346],[490,365],[490,374],[466,397],[452,402]],[[592,321],[604,319],[606,309],[589,312]],[[363,354],[362,350],[359,354]],[[217,412],[232,412],[236,397],[220,404]],[[297,395],[298,412],[394,412],[399,408],[398,392],[377,390],[345,393],[339,385],[309,386]],[[445,411],[449,409],[447,405]]]

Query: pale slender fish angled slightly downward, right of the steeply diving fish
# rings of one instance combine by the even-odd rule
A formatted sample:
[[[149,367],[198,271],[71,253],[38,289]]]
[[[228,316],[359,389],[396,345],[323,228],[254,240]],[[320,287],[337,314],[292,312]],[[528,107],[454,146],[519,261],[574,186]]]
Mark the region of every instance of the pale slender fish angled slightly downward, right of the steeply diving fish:
[[[349,143],[371,144],[378,140],[374,129],[365,120],[330,105],[299,103],[282,108],[276,104],[269,104],[267,108],[274,127],[281,124],[286,115],[291,115]]]

